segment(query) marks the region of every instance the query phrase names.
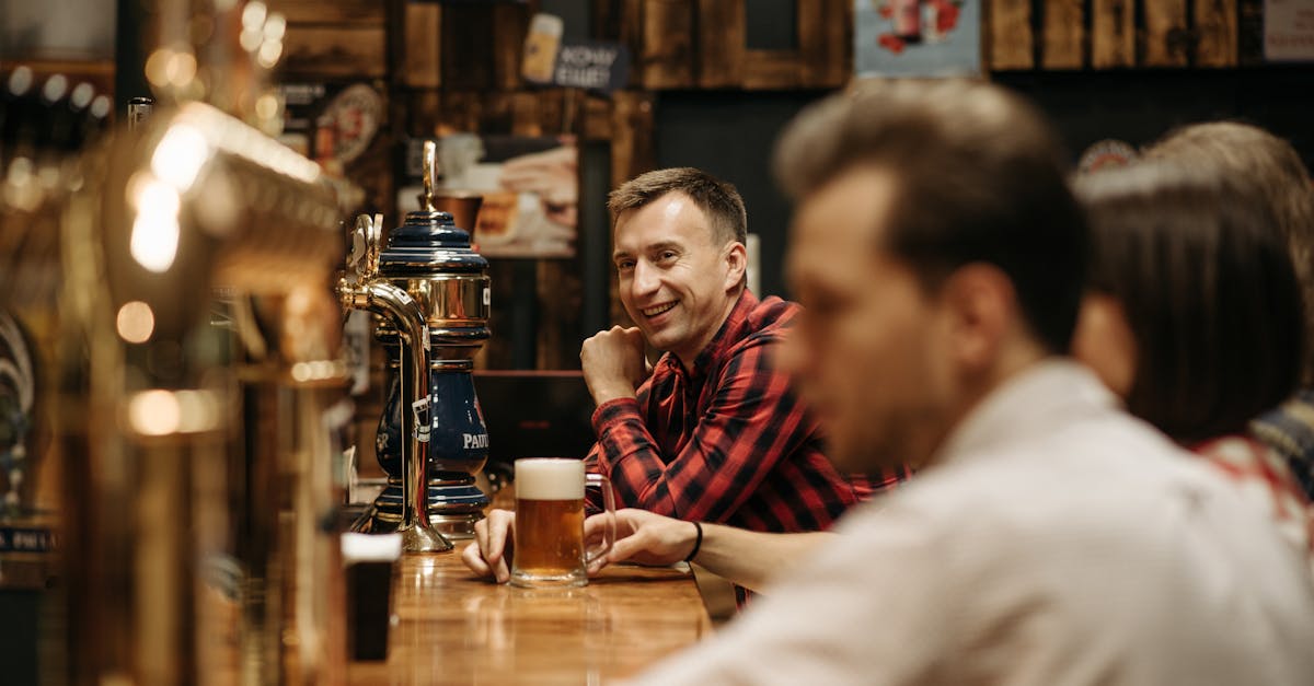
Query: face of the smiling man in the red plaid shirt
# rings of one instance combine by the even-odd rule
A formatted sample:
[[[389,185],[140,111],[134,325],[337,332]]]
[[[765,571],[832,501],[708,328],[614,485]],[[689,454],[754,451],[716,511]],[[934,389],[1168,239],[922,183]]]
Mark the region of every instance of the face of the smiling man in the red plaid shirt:
[[[614,239],[629,318],[650,346],[692,364],[735,308],[744,247],[717,244],[707,216],[678,191],[622,213]]]

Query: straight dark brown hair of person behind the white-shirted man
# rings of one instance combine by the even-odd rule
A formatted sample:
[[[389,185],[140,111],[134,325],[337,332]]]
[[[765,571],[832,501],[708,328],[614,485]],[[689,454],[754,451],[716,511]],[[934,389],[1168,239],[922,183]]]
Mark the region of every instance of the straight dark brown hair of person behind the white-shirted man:
[[[1272,208],[1230,179],[1141,163],[1077,181],[1091,289],[1137,342],[1127,410],[1180,442],[1243,431],[1294,389],[1301,289]]]

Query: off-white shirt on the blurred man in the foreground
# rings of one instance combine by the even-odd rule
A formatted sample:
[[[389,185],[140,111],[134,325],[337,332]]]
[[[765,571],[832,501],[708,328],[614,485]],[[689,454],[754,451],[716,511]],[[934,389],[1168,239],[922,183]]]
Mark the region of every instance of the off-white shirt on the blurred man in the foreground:
[[[639,683],[1311,685],[1314,585],[1235,490],[1046,361]]]

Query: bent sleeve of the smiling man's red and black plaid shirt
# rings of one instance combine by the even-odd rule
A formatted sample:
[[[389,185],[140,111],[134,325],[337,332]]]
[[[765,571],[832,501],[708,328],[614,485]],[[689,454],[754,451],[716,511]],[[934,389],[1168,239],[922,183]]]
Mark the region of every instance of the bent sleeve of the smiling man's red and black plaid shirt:
[[[749,346],[728,360],[715,397],[678,455],[658,452],[637,400],[603,403],[593,415],[598,444],[589,469],[606,476],[625,506],[724,522],[811,428],[788,393],[788,377],[769,364],[769,354],[767,344]]]

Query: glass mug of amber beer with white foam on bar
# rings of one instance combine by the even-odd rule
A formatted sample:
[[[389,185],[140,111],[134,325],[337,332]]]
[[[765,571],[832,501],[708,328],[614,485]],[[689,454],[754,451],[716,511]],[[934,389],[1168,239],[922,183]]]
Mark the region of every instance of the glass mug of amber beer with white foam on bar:
[[[587,568],[616,540],[616,505],[611,484],[585,474],[583,461],[531,457],[515,461],[515,553],[511,585],[570,587],[589,583]],[[585,549],[585,486],[602,489],[610,516],[603,543]]]

